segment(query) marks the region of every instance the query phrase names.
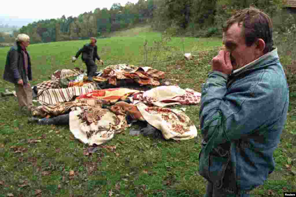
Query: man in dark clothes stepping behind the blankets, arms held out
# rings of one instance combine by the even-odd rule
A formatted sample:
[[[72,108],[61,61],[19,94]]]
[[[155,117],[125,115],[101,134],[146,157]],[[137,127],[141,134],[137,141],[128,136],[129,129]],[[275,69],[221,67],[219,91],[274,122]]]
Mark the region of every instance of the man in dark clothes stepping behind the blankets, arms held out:
[[[100,59],[96,46],[96,38],[91,37],[91,42],[89,44],[85,44],[79,51],[76,53],[74,57],[72,57],[72,61],[75,62],[79,55],[82,53],[81,59],[86,64],[87,69],[87,77],[89,81],[92,81],[92,77],[94,77],[98,66],[96,65],[96,59],[103,65],[104,62]]]

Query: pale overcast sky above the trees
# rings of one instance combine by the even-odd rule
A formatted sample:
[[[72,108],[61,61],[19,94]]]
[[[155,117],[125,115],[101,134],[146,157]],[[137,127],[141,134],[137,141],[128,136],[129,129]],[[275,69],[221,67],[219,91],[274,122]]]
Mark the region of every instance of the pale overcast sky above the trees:
[[[84,12],[94,12],[96,8],[110,9],[113,3],[120,3],[124,6],[128,0],[25,0],[25,1],[1,1],[0,16],[18,17],[19,19],[56,19],[73,16],[77,17]],[[137,3],[138,0],[129,0],[131,3]]]

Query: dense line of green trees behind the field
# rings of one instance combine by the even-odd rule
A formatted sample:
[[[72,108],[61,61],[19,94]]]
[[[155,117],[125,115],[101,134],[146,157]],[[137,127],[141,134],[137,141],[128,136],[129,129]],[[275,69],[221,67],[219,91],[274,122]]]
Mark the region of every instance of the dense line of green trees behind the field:
[[[211,36],[221,33],[222,25],[236,10],[254,6],[273,19],[276,28],[284,30],[283,0],[139,0],[136,4],[115,3],[108,10],[97,8],[78,17],[39,20],[15,31],[9,38],[0,35],[0,42],[26,33],[31,43],[67,41],[99,37],[103,34],[149,22],[158,31],[187,36]],[[296,23],[289,18],[290,23]],[[284,20],[284,21],[283,21]],[[293,21],[294,20],[294,21]],[[287,21],[286,21],[287,22]],[[278,24],[278,25],[277,25]]]

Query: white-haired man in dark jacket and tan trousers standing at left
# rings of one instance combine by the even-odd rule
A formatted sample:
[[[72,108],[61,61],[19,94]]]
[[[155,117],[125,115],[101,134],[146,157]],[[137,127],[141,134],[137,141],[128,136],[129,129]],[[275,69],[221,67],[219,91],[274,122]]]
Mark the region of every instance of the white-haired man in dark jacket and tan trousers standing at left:
[[[27,47],[30,37],[19,34],[15,46],[7,53],[3,79],[15,84],[15,93],[20,111],[31,111],[33,92],[29,80],[32,80],[30,56]]]

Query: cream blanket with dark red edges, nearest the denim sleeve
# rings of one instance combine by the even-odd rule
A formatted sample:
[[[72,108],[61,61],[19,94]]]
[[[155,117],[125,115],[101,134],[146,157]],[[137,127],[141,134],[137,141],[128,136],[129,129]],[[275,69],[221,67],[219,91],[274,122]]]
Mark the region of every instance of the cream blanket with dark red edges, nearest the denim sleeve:
[[[201,93],[191,89],[181,89],[178,86],[159,86],[145,92],[135,93],[130,100],[133,104],[139,101],[147,105],[159,107],[169,105],[195,105],[200,103]]]

